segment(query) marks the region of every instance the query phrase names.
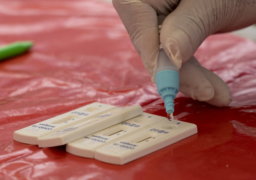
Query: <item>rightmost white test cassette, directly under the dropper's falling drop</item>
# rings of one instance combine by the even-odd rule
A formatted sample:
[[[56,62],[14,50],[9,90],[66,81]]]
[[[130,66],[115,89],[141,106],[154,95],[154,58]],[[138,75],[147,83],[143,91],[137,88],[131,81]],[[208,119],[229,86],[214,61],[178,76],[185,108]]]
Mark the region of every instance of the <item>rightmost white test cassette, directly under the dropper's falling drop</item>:
[[[111,164],[123,165],[197,133],[197,126],[178,120],[163,121],[158,125],[118,139],[98,148],[94,158]]]

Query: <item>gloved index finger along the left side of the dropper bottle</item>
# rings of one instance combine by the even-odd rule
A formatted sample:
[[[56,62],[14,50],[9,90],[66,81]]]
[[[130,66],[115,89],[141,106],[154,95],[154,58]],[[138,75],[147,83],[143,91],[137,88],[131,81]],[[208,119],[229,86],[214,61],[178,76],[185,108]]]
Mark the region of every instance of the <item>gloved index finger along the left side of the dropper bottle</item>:
[[[159,51],[157,13],[150,5],[139,0],[130,3],[113,0],[112,3],[146,70],[154,77]]]

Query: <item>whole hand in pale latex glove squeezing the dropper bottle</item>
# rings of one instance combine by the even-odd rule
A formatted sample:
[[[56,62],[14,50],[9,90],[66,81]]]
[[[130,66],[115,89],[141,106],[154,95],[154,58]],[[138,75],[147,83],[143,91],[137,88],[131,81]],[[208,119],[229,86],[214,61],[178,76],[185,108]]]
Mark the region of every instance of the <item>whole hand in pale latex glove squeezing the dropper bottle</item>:
[[[211,34],[256,23],[256,0],[112,0],[135,49],[155,82],[159,35],[157,15],[167,16],[161,44],[180,69],[180,92],[215,106],[232,101],[226,83],[200,66],[193,54]]]

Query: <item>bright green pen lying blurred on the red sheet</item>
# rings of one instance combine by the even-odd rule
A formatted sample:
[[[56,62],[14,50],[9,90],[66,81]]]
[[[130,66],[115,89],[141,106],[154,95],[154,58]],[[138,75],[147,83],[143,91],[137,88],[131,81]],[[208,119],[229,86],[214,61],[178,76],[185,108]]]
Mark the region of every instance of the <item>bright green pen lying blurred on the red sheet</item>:
[[[15,57],[28,51],[33,45],[32,41],[17,41],[0,47],[0,61]]]

